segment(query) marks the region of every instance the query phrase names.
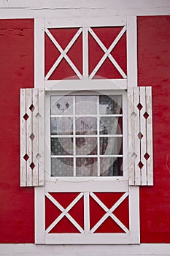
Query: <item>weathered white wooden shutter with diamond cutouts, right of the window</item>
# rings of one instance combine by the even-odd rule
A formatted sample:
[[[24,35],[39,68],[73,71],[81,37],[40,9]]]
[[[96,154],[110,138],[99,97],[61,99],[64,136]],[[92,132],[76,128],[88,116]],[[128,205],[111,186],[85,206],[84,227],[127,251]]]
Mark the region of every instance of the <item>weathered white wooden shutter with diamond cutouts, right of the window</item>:
[[[153,185],[151,87],[128,89],[128,167],[130,185]]]

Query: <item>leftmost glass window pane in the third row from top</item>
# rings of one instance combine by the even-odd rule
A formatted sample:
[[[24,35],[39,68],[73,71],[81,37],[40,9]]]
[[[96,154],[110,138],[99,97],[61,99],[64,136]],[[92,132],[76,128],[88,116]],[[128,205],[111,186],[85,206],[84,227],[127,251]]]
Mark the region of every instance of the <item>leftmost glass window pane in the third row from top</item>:
[[[72,138],[51,138],[51,153],[52,155],[72,155]]]

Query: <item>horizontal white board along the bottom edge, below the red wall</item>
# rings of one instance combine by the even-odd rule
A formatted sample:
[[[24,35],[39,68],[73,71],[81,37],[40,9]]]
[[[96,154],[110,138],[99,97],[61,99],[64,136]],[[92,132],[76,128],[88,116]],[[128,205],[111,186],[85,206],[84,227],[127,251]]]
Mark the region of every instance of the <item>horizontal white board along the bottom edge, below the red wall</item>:
[[[131,244],[131,245],[37,245],[37,244],[0,244],[1,256],[167,256],[170,244]]]

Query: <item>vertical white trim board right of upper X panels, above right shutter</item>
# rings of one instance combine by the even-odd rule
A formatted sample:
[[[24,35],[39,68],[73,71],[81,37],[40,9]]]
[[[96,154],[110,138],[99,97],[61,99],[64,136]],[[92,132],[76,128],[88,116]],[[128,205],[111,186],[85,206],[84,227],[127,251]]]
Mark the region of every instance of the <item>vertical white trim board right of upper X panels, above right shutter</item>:
[[[127,77],[128,87],[137,86],[136,16],[127,18]]]

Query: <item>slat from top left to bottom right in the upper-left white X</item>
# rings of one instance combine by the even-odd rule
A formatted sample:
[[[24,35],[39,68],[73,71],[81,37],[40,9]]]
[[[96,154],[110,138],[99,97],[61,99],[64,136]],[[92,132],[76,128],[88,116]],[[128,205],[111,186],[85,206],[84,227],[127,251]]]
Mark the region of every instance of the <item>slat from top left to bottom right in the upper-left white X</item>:
[[[72,60],[69,58],[69,56],[66,55],[66,53],[64,52],[64,50],[61,48],[61,45],[58,44],[58,42],[56,41],[56,39],[53,37],[53,34],[50,33],[50,31],[48,29],[45,29],[46,34],[48,35],[48,37],[50,37],[51,41],[53,42],[53,44],[55,45],[56,48],[58,48],[58,50],[60,51],[60,53],[63,54],[64,59],[66,59],[66,61],[68,62],[68,64],[70,65],[70,67],[72,67],[72,69],[74,70],[74,72],[76,73],[76,75],[82,79],[82,75],[80,74],[79,70],[77,69],[77,67],[74,65],[74,63],[72,62]]]

